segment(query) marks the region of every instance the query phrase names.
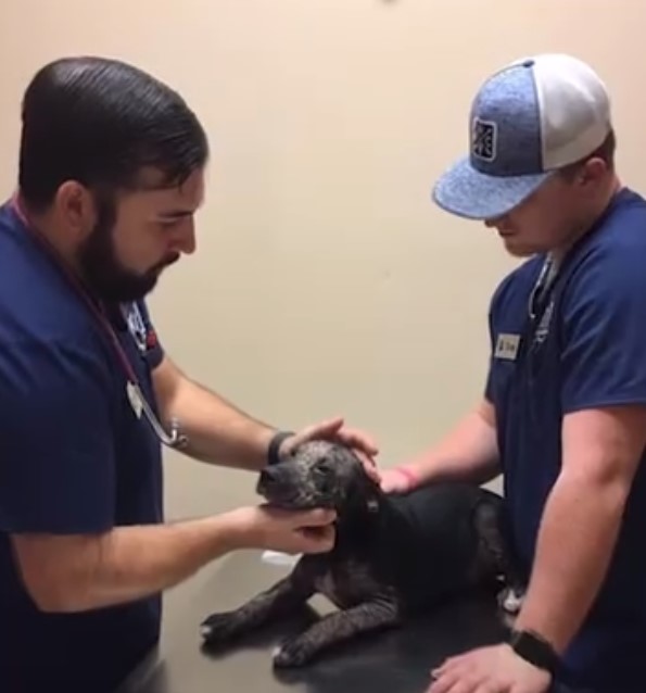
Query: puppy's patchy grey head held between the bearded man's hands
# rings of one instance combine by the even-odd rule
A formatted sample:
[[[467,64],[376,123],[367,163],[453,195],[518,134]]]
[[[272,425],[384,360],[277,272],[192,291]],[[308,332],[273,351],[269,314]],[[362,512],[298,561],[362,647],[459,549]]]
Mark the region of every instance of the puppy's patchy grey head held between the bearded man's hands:
[[[289,457],[265,468],[256,491],[284,509],[329,507],[342,515],[351,507],[373,506],[379,487],[352,450],[317,440],[303,443]]]

